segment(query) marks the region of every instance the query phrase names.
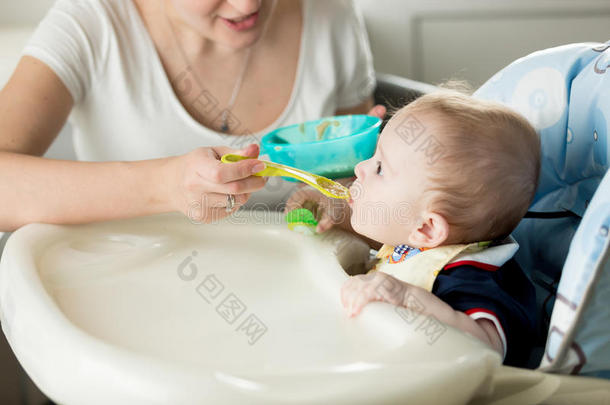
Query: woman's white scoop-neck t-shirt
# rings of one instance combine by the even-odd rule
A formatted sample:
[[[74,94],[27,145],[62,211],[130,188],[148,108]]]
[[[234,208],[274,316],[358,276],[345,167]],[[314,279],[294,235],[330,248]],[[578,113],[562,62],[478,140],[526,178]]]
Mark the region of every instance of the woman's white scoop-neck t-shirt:
[[[227,136],[189,115],[131,0],[58,0],[23,54],[47,64],[74,98],[69,121],[79,160],[152,159],[201,146],[240,148],[258,143],[274,128],[334,115],[372,94],[371,52],[353,2],[302,4],[303,31],[290,101],[272,125],[252,135]],[[209,100],[205,93],[198,98],[212,106]],[[274,209],[293,189],[294,183],[270,179],[249,205]]]

